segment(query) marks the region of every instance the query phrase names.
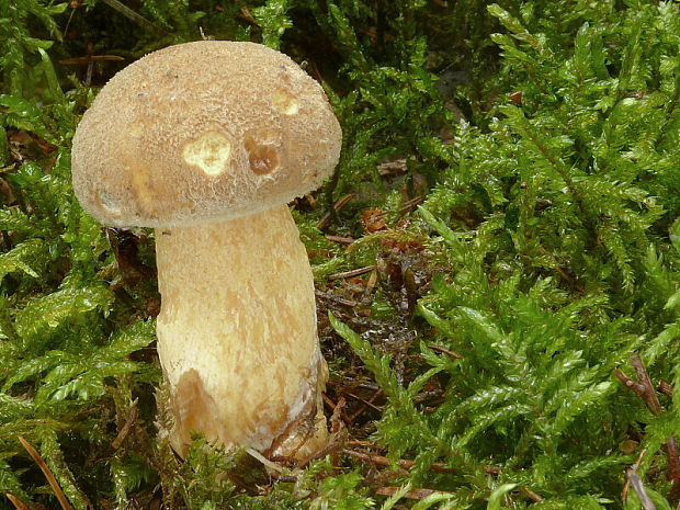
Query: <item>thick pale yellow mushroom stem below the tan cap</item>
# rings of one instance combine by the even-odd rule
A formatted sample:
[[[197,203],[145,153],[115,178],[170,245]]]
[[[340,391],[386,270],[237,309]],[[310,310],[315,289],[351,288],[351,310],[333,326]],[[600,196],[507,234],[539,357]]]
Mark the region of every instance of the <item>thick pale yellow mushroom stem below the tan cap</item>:
[[[171,443],[302,458],[328,441],[327,379],[314,281],[287,206],[228,222],[156,229],[158,352]]]

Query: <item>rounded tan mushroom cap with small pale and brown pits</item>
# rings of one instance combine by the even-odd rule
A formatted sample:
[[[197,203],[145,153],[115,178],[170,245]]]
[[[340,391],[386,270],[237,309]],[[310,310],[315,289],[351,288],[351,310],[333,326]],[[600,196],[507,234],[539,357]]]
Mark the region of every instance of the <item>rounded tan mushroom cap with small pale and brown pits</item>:
[[[226,220],[317,188],[341,139],[324,90],[287,56],[254,43],[181,44],[100,91],[73,137],[73,189],[106,225]]]

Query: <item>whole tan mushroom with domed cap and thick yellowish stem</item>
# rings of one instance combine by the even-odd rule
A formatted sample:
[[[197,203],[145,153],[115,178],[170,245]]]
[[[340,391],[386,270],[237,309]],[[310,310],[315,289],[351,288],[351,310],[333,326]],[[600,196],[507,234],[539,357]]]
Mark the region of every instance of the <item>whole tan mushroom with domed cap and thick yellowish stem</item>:
[[[151,53],[80,122],[82,206],[156,229],[158,353],[180,454],[192,430],[265,455],[326,445],[314,282],[286,204],[329,177],[341,138],[321,87],[253,43]]]

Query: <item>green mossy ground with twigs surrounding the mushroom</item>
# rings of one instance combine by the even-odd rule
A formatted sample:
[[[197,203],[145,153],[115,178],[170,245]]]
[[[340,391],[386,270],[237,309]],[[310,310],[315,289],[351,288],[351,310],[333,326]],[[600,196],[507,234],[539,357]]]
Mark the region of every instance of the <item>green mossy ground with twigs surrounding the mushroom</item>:
[[[154,239],[70,188],[99,87],[201,31],[303,63],[344,133],[293,204],[335,443],[277,478],[171,453]],[[21,437],[79,510],[677,508],[677,2],[4,0],[0,72],[1,492],[59,505]]]

